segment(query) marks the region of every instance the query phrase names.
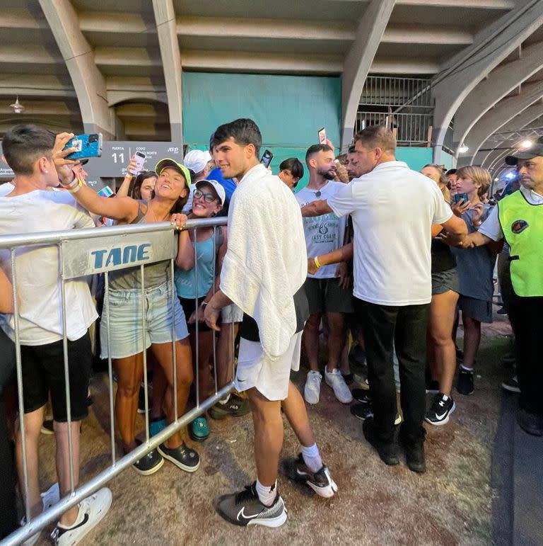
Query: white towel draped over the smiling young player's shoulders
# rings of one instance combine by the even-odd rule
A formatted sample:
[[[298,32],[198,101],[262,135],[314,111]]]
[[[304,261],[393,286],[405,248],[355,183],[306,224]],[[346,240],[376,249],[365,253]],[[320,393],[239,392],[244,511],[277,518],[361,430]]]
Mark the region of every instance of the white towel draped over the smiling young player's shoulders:
[[[233,193],[221,290],[258,324],[264,353],[283,355],[296,332],[293,295],[308,272],[302,215],[291,190],[263,165]]]

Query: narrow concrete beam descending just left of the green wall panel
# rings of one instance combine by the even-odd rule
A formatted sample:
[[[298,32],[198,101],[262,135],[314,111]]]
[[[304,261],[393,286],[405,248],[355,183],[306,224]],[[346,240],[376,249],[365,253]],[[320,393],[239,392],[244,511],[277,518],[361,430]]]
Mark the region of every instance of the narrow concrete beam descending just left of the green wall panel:
[[[158,32],[158,45],[164,71],[170,135],[173,142],[183,143],[183,108],[181,91],[181,55],[173,0],[153,0],[153,12]]]

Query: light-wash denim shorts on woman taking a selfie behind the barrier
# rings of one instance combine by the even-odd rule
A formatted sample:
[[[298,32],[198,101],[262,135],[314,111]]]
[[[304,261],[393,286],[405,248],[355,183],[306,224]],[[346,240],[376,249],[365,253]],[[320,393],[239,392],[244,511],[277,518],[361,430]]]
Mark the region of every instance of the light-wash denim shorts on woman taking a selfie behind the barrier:
[[[171,283],[144,290],[145,340],[141,317],[141,289],[110,290],[109,308],[104,302],[100,321],[100,357],[107,358],[107,322],[110,323],[111,358],[126,358],[142,353],[151,343],[171,343],[173,317],[175,339],[189,336],[185,313]]]

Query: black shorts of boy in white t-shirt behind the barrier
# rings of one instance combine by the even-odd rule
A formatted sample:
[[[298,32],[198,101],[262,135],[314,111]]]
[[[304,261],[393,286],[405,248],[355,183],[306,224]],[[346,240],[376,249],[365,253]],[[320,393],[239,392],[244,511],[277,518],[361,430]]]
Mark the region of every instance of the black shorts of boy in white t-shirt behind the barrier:
[[[21,364],[25,414],[45,406],[50,392],[54,421],[68,421],[62,339],[46,345],[21,345]],[[88,416],[88,380],[92,366],[93,353],[88,331],[76,341],[68,340],[72,421],[81,421]]]

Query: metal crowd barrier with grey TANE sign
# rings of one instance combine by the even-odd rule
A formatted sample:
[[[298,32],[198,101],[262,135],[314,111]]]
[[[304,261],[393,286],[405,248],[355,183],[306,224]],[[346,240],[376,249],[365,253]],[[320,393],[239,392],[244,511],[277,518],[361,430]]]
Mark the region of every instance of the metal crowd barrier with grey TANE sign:
[[[189,220],[185,229],[194,229],[194,234],[197,233],[198,227],[214,227],[214,236],[216,235],[216,227],[226,225],[226,217],[210,218],[206,220]],[[196,237],[194,237],[196,239]],[[13,283],[13,317],[15,325],[15,344],[16,344],[16,377],[18,386],[18,411],[19,416],[24,415],[23,409],[23,383],[21,370],[21,346],[19,343],[19,320],[18,320],[18,293],[17,293],[17,271],[16,271],[16,249],[25,247],[40,247],[40,246],[57,246],[58,261],[61,268],[60,290],[61,290],[61,307],[62,307],[62,331],[64,332],[64,376],[66,377],[66,412],[68,416],[68,445],[70,457],[70,489],[69,496],[60,499],[59,503],[47,509],[37,516],[30,518],[30,506],[28,504],[28,467],[26,460],[26,445],[25,445],[25,426],[24,419],[19,419],[22,437],[22,455],[23,455],[23,483],[19,487],[24,491],[25,497],[25,516],[26,523],[23,527],[16,530],[7,538],[2,540],[0,544],[18,545],[30,538],[35,533],[39,532],[52,521],[57,521],[58,518],[66,510],[75,506],[80,501],[98,491],[113,477],[117,476],[122,470],[132,465],[136,460],[141,459],[150,450],[156,448],[160,443],[170,438],[175,432],[182,427],[187,426],[190,421],[202,415],[204,411],[218,402],[218,399],[224,397],[233,388],[233,382],[218,389],[217,385],[217,360],[215,351],[215,332],[214,332],[214,372],[215,372],[215,392],[211,397],[201,401],[199,399],[199,365],[198,365],[198,322],[196,322],[195,334],[195,382],[194,389],[196,394],[196,406],[188,411],[183,416],[178,417],[177,411],[177,367],[176,367],[176,352],[175,352],[175,313],[172,321],[172,346],[173,346],[173,392],[175,422],[171,423],[167,428],[163,429],[156,436],[149,436],[149,414],[148,414],[148,384],[147,384],[147,358],[146,350],[143,351],[144,359],[144,391],[145,391],[145,436],[146,440],[138,448],[130,452],[128,455],[117,459],[115,453],[115,413],[114,413],[114,398],[113,398],[113,376],[112,376],[112,358],[109,350],[110,343],[110,320],[107,321],[107,339],[101,340],[101,343],[108,344],[108,375],[109,375],[109,397],[110,397],[110,448],[111,448],[111,465],[102,470],[95,477],[91,478],[80,487],[75,487],[74,484],[74,465],[72,460],[72,435],[71,435],[71,407],[70,407],[70,392],[69,392],[69,368],[68,368],[68,339],[66,336],[66,291],[65,283],[67,280],[81,278],[86,275],[104,273],[105,276],[105,295],[104,308],[109,305],[109,279],[108,273],[118,269],[124,269],[134,266],[139,266],[141,275],[141,307],[142,307],[142,326],[143,337],[146,337],[145,324],[145,279],[144,266],[148,263],[157,261],[170,260],[170,282],[172,284],[172,300],[177,297],[174,284],[174,264],[177,254],[177,237],[173,226],[169,222],[160,222],[156,224],[137,224],[126,226],[115,226],[107,228],[94,229],[69,229],[62,232],[44,232],[35,234],[16,234],[0,237],[0,249],[8,249],[11,258],[11,270]],[[216,237],[214,237],[214,256],[216,253]],[[197,260],[197,252],[194,250],[194,258]],[[215,267],[215,266],[214,266]],[[197,281],[197,269],[195,268]],[[173,307],[173,305],[172,305]],[[198,298],[195,298],[195,308],[198,307]],[[172,309],[173,310],[173,309]],[[188,319],[188,317],[186,317]],[[233,317],[232,317],[233,319]],[[232,356],[234,346],[234,328],[232,331]],[[99,351],[100,348],[97,348]],[[232,358],[233,360],[233,358]],[[231,363],[233,366],[233,362]]]

